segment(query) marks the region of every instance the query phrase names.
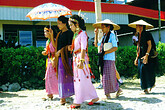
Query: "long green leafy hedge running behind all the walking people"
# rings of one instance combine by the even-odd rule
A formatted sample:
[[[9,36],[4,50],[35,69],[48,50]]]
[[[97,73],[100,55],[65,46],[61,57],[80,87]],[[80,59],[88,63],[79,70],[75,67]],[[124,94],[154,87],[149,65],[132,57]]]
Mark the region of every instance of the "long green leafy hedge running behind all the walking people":
[[[29,81],[33,88],[44,87],[46,57],[41,54],[43,47],[21,47],[21,48],[1,48],[0,49],[0,85],[7,82],[23,83]],[[156,75],[165,73],[165,43],[157,45],[158,68]],[[90,65],[96,80],[100,74],[97,66],[97,48],[88,48]],[[121,76],[138,77],[137,67],[134,66],[136,57],[136,47],[119,47],[116,52],[116,67]]]

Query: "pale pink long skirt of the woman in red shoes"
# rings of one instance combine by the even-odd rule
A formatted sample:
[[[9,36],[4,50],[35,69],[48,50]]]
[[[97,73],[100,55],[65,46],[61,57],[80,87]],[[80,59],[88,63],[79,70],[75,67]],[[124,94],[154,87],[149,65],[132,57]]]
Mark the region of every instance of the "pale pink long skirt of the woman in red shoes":
[[[88,67],[87,60],[84,63],[83,69],[77,68],[78,59],[80,59],[80,55],[78,54],[77,58],[73,58],[73,66],[74,66],[74,89],[75,89],[75,98],[73,103],[81,104],[85,100],[98,98],[96,90],[92,84],[90,77],[90,70]],[[87,55],[85,57],[87,59]]]

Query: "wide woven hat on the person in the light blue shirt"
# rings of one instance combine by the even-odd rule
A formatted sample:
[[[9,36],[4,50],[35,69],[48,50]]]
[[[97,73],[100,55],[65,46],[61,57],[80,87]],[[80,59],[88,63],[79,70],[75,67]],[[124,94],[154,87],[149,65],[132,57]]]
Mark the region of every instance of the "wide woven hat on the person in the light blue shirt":
[[[100,22],[97,22],[97,23],[94,23],[93,24],[93,27],[95,28],[101,28],[101,24],[112,24],[114,29],[113,30],[119,30],[120,29],[120,26],[113,23],[111,20],[109,19],[105,19],[104,21],[100,21]]]

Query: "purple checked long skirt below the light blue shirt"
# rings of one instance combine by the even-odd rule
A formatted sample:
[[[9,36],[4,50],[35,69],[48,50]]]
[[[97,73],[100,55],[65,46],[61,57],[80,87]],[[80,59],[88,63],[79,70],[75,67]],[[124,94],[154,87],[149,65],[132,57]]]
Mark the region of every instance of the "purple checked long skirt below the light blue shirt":
[[[118,91],[119,84],[116,79],[115,61],[104,60],[102,82],[105,95]]]

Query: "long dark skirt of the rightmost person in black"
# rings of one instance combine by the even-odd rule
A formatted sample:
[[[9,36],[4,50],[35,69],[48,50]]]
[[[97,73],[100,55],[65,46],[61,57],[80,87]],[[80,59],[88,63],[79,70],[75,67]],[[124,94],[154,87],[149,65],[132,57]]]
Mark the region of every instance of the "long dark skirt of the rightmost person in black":
[[[143,64],[138,59],[138,71],[140,73],[140,85],[143,90],[152,88],[155,84],[154,60],[149,59],[147,64]]]

